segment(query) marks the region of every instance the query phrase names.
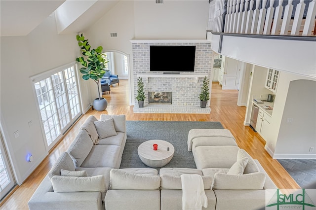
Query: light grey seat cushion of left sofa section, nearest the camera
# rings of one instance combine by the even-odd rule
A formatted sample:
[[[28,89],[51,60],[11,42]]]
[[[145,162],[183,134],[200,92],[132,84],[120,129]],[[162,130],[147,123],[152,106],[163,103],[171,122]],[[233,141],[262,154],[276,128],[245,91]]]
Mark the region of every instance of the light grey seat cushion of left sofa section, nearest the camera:
[[[117,145],[93,145],[91,152],[85,158],[80,167],[95,168],[109,167],[117,168],[120,146]],[[120,162],[119,162],[120,163]]]

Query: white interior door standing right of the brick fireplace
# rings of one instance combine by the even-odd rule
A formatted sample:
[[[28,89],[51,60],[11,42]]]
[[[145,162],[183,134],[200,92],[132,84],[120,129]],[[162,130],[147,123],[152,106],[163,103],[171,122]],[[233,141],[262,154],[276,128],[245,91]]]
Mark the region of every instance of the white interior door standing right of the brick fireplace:
[[[241,62],[226,57],[222,82],[223,90],[238,90]]]

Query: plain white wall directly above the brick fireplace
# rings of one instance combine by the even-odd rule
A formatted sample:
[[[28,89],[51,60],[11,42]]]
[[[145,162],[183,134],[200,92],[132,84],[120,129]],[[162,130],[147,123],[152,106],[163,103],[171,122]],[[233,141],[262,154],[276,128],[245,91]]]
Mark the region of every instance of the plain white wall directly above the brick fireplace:
[[[136,39],[205,39],[207,0],[139,0],[134,3]]]

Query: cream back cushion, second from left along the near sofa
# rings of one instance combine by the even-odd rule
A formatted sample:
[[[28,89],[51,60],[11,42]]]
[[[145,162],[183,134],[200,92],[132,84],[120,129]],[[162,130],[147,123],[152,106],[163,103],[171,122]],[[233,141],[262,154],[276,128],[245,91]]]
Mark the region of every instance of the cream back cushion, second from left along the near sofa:
[[[160,176],[132,174],[119,169],[110,172],[111,190],[158,190]]]

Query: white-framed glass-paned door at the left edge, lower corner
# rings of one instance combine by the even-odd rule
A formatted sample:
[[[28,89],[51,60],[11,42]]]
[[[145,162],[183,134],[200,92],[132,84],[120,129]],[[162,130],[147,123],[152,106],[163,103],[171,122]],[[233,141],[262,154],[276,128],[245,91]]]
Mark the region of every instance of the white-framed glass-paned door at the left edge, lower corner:
[[[15,186],[0,132],[0,200]]]

